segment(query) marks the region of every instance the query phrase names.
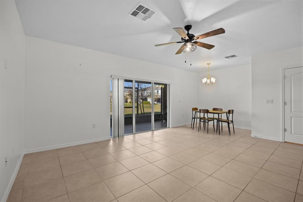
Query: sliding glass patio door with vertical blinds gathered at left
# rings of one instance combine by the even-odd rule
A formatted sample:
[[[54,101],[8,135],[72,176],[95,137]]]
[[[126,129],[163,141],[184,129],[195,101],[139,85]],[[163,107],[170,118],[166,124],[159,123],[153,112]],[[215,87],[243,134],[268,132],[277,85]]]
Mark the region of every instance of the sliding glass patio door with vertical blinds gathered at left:
[[[112,137],[169,127],[169,88],[165,82],[112,77]]]

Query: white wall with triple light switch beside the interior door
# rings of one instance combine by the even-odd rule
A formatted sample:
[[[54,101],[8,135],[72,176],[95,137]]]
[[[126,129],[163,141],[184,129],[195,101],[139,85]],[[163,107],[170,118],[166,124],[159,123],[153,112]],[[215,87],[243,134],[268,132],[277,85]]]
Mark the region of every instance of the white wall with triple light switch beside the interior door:
[[[282,67],[303,66],[303,47],[251,58],[252,136],[282,140]],[[273,104],[265,104],[273,99]]]

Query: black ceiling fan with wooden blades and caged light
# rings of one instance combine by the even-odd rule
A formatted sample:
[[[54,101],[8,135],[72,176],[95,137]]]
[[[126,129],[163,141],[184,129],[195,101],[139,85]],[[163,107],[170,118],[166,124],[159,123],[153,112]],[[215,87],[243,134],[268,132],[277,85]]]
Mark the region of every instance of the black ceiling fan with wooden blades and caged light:
[[[184,29],[187,31],[187,34],[185,33]],[[157,44],[155,46],[175,44],[175,43],[184,43],[183,45],[181,45],[181,47],[176,52],[176,54],[180,54],[182,52],[193,52],[197,48],[197,45],[202,47],[202,48],[210,50],[215,46],[211,45],[211,44],[208,44],[208,43],[198,42],[197,40],[225,33],[225,30],[223,28],[219,28],[219,29],[215,29],[213,31],[206,32],[204,34],[195,36],[195,35],[189,33],[189,30],[191,30],[191,25],[186,25],[184,27],[184,29],[174,28],[174,30],[181,36],[181,41],[170,42],[170,43],[162,43],[162,44]]]

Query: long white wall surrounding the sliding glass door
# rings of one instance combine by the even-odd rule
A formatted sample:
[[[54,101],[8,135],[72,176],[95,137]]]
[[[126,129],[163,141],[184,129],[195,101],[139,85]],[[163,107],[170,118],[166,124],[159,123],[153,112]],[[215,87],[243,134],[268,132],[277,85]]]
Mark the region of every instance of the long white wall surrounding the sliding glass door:
[[[197,73],[33,37],[25,44],[26,151],[109,138],[110,75],[172,82],[171,125],[191,121]]]

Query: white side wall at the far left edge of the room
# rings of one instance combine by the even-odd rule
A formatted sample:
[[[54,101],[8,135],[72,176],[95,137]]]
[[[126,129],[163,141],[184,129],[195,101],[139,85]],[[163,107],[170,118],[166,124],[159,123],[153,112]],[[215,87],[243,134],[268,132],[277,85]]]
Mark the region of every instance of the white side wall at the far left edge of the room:
[[[0,1],[0,200],[6,201],[24,150],[25,35],[15,1]],[[5,69],[5,58],[7,69]],[[14,148],[14,150],[13,150]],[[5,167],[5,157],[7,166]],[[10,184],[10,181],[11,184]]]

